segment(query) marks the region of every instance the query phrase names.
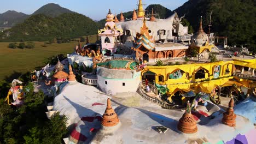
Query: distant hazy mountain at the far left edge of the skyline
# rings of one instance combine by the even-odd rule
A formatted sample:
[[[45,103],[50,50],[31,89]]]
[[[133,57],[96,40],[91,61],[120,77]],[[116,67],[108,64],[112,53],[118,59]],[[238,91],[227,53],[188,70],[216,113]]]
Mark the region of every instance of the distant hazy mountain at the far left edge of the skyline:
[[[16,23],[20,23],[27,19],[29,15],[18,13],[14,10],[8,10],[0,14],[0,27],[13,27]]]

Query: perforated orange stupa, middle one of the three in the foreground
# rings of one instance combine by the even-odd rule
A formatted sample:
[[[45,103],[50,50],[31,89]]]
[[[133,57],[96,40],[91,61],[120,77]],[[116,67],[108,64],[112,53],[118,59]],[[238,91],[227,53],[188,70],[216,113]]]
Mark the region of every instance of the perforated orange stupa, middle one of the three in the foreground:
[[[181,119],[179,119],[178,130],[187,134],[193,134],[197,131],[196,121],[191,114],[189,101],[187,103],[187,110],[185,111]]]

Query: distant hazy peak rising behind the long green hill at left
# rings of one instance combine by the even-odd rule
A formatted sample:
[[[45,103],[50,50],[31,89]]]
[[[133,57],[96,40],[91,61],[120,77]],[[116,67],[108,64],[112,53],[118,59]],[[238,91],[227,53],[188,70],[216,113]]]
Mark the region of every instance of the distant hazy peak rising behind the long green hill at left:
[[[32,15],[44,14],[46,16],[55,17],[65,13],[74,13],[74,12],[69,9],[62,8],[59,4],[49,3],[39,8],[37,11],[34,11]]]

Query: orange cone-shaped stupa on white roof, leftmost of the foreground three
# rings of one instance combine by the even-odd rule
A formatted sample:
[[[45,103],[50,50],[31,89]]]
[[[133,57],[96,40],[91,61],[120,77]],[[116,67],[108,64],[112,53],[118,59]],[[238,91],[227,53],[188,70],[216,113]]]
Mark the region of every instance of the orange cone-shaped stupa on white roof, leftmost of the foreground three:
[[[119,123],[119,119],[118,119],[117,113],[115,113],[115,111],[112,109],[111,101],[108,98],[107,109],[105,110],[102,116],[101,124],[105,127],[113,127],[118,123]]]

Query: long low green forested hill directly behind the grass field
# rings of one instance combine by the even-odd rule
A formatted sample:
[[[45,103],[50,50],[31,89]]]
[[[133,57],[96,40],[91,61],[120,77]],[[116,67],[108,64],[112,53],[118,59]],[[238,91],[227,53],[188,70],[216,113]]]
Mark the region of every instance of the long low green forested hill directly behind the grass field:
[[[0,41],[46,41],[71,39],[97,33],[98,24],[82,14],[65,13],[57,17],[33,15],[0,35]]]

